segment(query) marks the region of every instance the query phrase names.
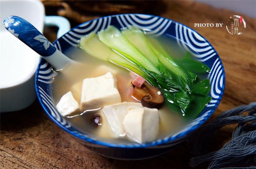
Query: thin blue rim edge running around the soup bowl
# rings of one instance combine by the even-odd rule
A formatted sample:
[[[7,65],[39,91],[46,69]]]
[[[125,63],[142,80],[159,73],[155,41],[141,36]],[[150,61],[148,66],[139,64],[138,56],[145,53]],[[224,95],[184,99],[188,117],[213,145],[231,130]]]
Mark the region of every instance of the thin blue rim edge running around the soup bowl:
[[[93,19],[93,20],[99,20],[99,19],[102,19],[102,18],[106,18],[106,17],[116,17],[116,16],[123,16],[123,15],[146,15],[146,16],[149,16],[149,17],[159,17],[159,18],[163,18],[163,19],[167,19],[169,21],[172,21],[172,22],[175,22],[175,23],[178,23],[178,24],[181,24],[182,26],[185,26],[186,28],[189,28],[191,29],[192,31],[194,31],[195,33],[197,33],[198,35],[200,35],[206,43],[209,43],[209,41],[203,37],[201,34],[199,34],[197,31],[195,31],[194,29],[190,28],[189,26],[186,26],[184,25],[183,23],[180,23],[180,22],[177,22],[175,20],[172,20],[172,19],[169,19],[169,18],[166,18],[166,17],[160,17],[160,16],[156,16],[156,15],[151,15],[151,14],[114,14],[114,15],[108,15],[108,16],[105,16],[105,17],[99,17],[99,18],[96,18],[96,19]],[[91,21],[93,20],[89,20],[87,22],[84,22],[84,23],[81,23],[79,24],[78,26],[70,29],[70,31],[73,31],[74,29],[78,28],[79,26],[85,24],[85,23],[90,23]],[[70,32],[69,31],[69,32]],[[66,32],[65,34],[69,33],[69,32]],[[64,34],[64,35],[65,35]],[[62,35],[61,37],[63,37],[64,35]],[[55,43],[61,38],[59,37],[58,39],[56,39],[52,44],[55,45]],[[212,46],[211,43],[209,43],[209,46]],[[40,59],[40,62],[38,64],[38,68],[37,68],[37,71],[35,73],[35,90],[36,90],[36,95],[38,97],[38,100],[41,104],[41,106],[43,107],[44,109],[44,112],[46,112],[47,116],[55,123],[57,124],[57,126],[59,126],[61,129],[63,129],[64,131],[68,132],[70,135],[73,135],[74,137],[80,139],[80,140],[83,140],[83,141],[87,141],[89,143],[93,143],[93,144],[97,144],[99,146],[108,146],[108,147],[113,147],[113,148],[154,148],[154,146],[160,146],[160,145],[163,145],[163,144],[172,144],[172,143],[175,143],[175,142],[178,142],[180,143],[184,138],[186,138],[187,136],[189,136],[190,134],[192,134],[192,132],[194,132],[196,129],[198,129],[199,127],[201,127],[208,119],[209,117],[212,116],[212,114],[215,112],[215,110],[217,109],[223,95],[224,95],[224,90],[225,90],[225,82],[226,82],[226,75],[225,75],[225,70],[224,70],[224,66],[223,66],[223,63],[222,63],[222,60],[220,58],[220,56],[218,55],[218,52],[214,49],[214,47],[212,46],[212,49],[216,52],[216,57],[219,59],[219,62],[220,62],[220,65],[221,65],[221,70],[223,71],[223,90],[221,91],[221,94],[219,95],[218,97],[218,100],[217,100],[217,103],[215,103],[215,106],[212,107],[212,109],[210,109],[210,113],[207,117],[205,117],[203,120],[200,120],[195,126],[192,126],[190,129],[187,129],[186,131],[183,131],[183,129],[180,132],[179,135],[177,135],[176,137],[174,137],[174,139],[172,139],[172,136],[173,135],[176,135],[177,133],[173,134],[173,135],[168,135],[167,137],[165,137],[164,139],[160,139],[157,140],[157,141],[151,141],[149,143],[142,143],[142,144],[139,144],[139,143],[131,143],[131,144],[122,144],[122,143],[111,143],[111,142],[108,142],[108,141],[104,141],[104,140],[95,140],[93,138],[90,138],[89,136],[86,136],[86,137],[83,137],[81,136],[81,134],[77,133],[77,132],[73,132],[73,131],[70,131],[67,127],[61,125],[61,123],[59,121],[57,121],[54,117],[52,117],[50,115],[50,113],[48,112],[47,108],[44,106],[42,100],[41,100],[41,96],[39,94],[39,91],[38,91],[38,80],[37,80],[37,76],[38,76],[38,72],[39,72],[39,68],[40,68],[40,63],[42,62],[42,60],[44,60],[43,58]],[[205,108],[204,108],[205,109]],[[204,114],[206,114],[207,112],[205,112]],[[203,116],[203,115],[201,115]],[[201,117],[200,116],[200,117]],[[196,119],[196,118],[195,118]],[[191,122],[193,123],[193,122]],[[191,123],[189,123],[187,126],[189,126]],[[187,126],[185,127],[185,129],[187,128]],[[180,141],[181,140],[181,141]]]

